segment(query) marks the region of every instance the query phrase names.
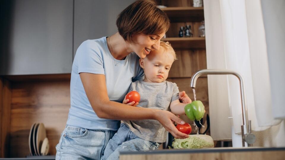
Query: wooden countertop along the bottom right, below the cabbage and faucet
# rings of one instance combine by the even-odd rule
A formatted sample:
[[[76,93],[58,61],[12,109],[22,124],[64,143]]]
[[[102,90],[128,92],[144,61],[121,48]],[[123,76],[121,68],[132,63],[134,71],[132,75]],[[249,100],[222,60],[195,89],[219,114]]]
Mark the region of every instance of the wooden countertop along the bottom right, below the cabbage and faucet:
[[[277,160],[284,159],[285,148],[205,148],[205,149],[164,149],[156,151],[121,152],[120,160]]]

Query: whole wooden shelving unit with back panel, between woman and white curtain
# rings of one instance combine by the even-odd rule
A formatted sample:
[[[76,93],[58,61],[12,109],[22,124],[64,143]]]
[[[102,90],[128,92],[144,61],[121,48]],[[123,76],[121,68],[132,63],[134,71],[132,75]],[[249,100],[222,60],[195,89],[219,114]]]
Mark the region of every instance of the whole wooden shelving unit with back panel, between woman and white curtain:
[[[198,70],[207,68],[206,40],[199,37],[199,27],[204,20],[204,7],[193,7],[192,0],[156,0],[159,5],[167,6],[161,8],[170,19],[170,29],[163,41],[169,41],[174,48],[178,60],[175,60],[170,69],[167,81],[177,84],[180,91],[185,91],[194,100],[190,85],[191,76]],[[193,37],[179,37],[180,27],[191,26]],[[208,79],[207,76],[200,77],[199,86],[196,87],[197,100],[201,100],[205,106],[204,120],[209,114]],[[192,125],[186,116],[180,117]],[[205,121],[204,121],[205,122]],[[203,122],[203,124],[204,124]],[[192,126],[194,128],[194,126]],[[196,132],[192,132],[195,134]],[[210,135],[210,130],[206,132]]]

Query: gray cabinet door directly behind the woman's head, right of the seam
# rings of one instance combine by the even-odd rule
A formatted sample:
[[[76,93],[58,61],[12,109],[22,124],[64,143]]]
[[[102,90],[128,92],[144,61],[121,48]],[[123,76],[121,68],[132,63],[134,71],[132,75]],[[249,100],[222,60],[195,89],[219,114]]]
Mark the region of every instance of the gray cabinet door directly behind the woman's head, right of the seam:
[[[74,48],[87,39],[111,36],[118,31],[118,14],[135,0],[75,0],[74,5]]]

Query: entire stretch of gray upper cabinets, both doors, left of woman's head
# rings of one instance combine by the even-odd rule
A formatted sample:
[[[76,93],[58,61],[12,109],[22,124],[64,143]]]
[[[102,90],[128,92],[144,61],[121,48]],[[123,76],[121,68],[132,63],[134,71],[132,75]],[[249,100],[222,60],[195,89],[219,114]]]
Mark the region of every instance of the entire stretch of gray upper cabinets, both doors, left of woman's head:
[[[0,0],[0,75],[71,73],[79,45],[116,33],[134,1]]]

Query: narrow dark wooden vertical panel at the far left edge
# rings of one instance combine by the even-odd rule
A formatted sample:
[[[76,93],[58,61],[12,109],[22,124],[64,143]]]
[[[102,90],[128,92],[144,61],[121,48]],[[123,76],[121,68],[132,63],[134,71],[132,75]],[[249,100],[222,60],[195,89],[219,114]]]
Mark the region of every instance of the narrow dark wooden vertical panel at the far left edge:
[[[0,157],[9,155],[9,141],[10,141],[10,115],[11,115],[11,87],[9,81],[0,78],[0,123],[1,123],[1,137],[0,137]]]

